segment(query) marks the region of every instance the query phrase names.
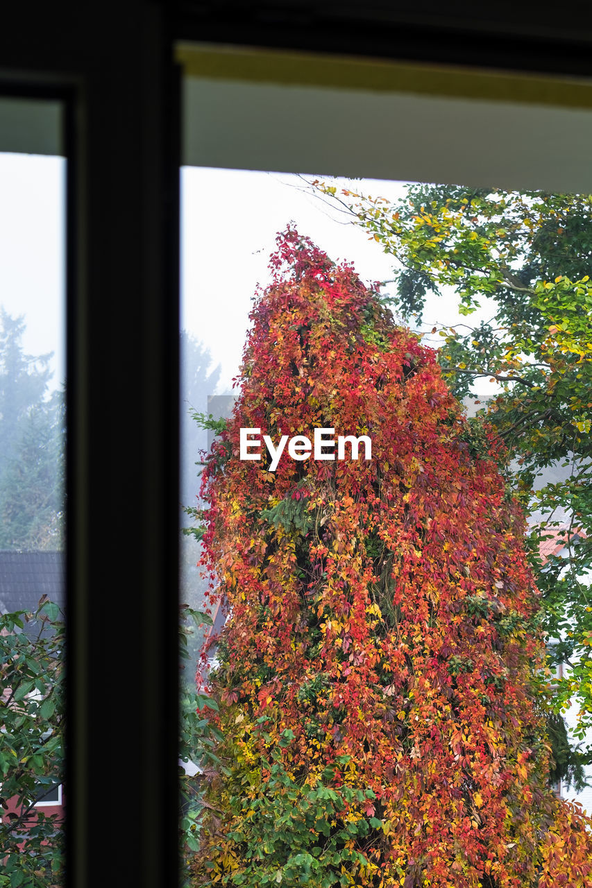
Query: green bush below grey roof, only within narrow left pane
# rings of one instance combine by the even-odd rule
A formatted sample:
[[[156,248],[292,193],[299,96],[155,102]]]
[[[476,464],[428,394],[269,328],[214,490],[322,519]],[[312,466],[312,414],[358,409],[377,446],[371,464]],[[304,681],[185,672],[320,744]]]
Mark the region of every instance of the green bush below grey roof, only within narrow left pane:
[[[35,807],[64,770],[64,627],[44,596],[35,614],[0,615],[2,888],[60,884],[59,815]]]

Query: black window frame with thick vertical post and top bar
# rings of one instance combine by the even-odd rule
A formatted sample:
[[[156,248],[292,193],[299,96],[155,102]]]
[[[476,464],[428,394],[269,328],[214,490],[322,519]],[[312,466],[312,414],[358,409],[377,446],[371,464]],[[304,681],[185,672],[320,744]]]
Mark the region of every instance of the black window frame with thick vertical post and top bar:
[[[561,21],[468,0],[12,8],[0,91],[67,107],[69,886],[177,882],[175,41],[584,76],[586,8],[568,0]],[[108,812],[97,773],[124,799]]]

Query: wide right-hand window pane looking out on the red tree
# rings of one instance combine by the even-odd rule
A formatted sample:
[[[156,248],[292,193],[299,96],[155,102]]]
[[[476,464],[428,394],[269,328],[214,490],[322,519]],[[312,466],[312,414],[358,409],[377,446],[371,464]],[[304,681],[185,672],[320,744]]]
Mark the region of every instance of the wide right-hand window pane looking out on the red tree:
[[[587,144],[592,115],[585,101],[573,112],[580,129],[566,149],[575,164],[566,173],[558,144],[546,142],[545,156],[535,152],[536,163],[529,165],[520,151],[508,160],[508,149],[504,154],[499,141],[511,121],[524,147],[539,127],[570,115],[552,102],[522,108],[509,99],[488,104],[460,93],[438,96],[437,90],[418,98],[402,89],[369,97],[363,90],[340,91],[335,83],[317,88],[293,70],[289,83],[271,83],[254,67],[243,78],[233,76],[232,66],[222,76],[220,69],[216,73],[208,67],[212,59],[207,54],[199,62],[205,66],[201,77],[195,69],[193,81],[188,75],[188,165],[181,179],[181,504],[192,510],[182,537],[182,600],[200,612],[196,622],[201,621],[186,665],[187,687],[196,671],[194,694],[201,694],[186,694],[186,702],[196,705],[202,725],[189,732],[193,749],[182,750],[194,755],[196,772],[182,824],[189,865],[196,884],[210,866],[222,879],[232,872],[237,884],[256,884],[253,873],[264,874],[252,862],[259,860],[258,841],[273,855],[277,882],[314,869],[326,879],[319,884],[338,884],[339,872],[363,879],[378,872],[372,868],[381,863],[391,866],[380,849],[392,831],[403,850],[399,868],[388,870],[389,877],[419,884],[420,875],[432,874],[421,868],[425,861],[420,866],[411,860],[408,846],[415,839],[411,833],[408,841],[401,837],[407,828],[396,814],[397,799],[408,809],[419,805],[418,793],[409,787],[403,797],[396,793],[415,773],[422,773],[418,781],[440,780],[431,795],[428,783],[421,783],[427,805],[421,816],[429,830],[442,819],[444,799],[452,805],[454,820],[451,798],[458,789],[459,798],[464,794],[471,800],[466,808],[468,820],[475,815],[470,829],[487,844],[480,813],[484,798],[497,798],[501,821],[506,801],[494,789],[499,784],[484,761],[472,771],[462,769],[472,755],[468,750],[475,751],[468,737],[482,732],[484,737],[487,725],[498,724],[498,703],[502,722],[512,725],[504,733],[504,755],[510,747],[524,751],[524,743],[531,744],[529,785],[544,786],[534,801],[528,793],[526,802],[524,795],[516,801],[525,816],[532,822],[563,816],[567,809],[554,807],[556,796],[576,799],[592,813],[591,790],[585,786],[592,776],[592,700],[585,678],[592,632],[586,610],[592,564],[586,542],[592,533],[586,493],[592,456],[586,395],[592,381],[592,204],[587,194],[574,194],[589,187],[578,156]],[[247,62],[240,62],[243,74]],[[220,114],[222,107],[228,113]],[[492,117],[499,129],[492,128]],[[352,120],[359,124],[362,119],[360,130],[372,149],[351,133]],[[526,129],[530,136],[524,135]],[[482,139],[488,140],[486,146]],[[207,165],[216,156],[225,169]],[[239,165],[252,169],[232,169]],[[344,167],[358,175],[407,170],[413,181],[325,175],[313,182],[315,169],[338,173]],[[437,176],[436,182],[446,184],[425,184],[412,176],[425,178],[428,172],[434,176],[428,183]],[[284,277],[277,264],[275,270],[268,266],[278,249],[283,250]],[[362,284],[354,285],[345,266],[327,271],[324,254],[338,266],[353,264]],[[353,289],[343,289],[346,280],[357,288],[358,303]],[[300,289],[299,281],[304,281]],[[362,304],[365,322],[358,316]],[[392,316],[382,313],[386,304]],[[348,325],[349,339],[342,332]],[[249,338],[252,329],[256,332]],[[323,337],[324,351],[318,345]],[[379,444],[386,432],[368,405],[386,403],[389,371],[373,374],[376,366],[390,366],[396,337],[407,349],[401,374],[415,395],[401,394],[405,410],[389,415],[397,435],[387,462]],[[341,353],[333,341],[341,343]],[[286,355],[292,356],[290,370]],[[433,377],[427,368],[433,368]],[[373,388],[365,387],[364,377],[375,380]],[[417,386],[428,384],[436,388],[422,390],[420,409],[412,397],[419,397]],[[351,408],[348,416],[357,425],[340,431],[352,437],[367,432],[370,438],[368,416],[374,416],[379,452],[373,458],[381,463],[372,507],[360,492],[362,481],[344,496],[340,479],[347,472],[337,465],[340,457],[317,451],[306,440],[314,430],[301,426],[292,409],[300,405],[303,416],[317,409],[324,426],[336,425],[339,405],[351,407],[355,401],[352,391],[359,392],[360,407],[359,413]],[[451,392],[453,398],[446,400]],[[244,398],[237,402],[241,393]],[[448,413],[438,407],[442,398]],[[285,427],[282,411],[290,415]],[[368,428],[361,427],[364,423]],[[265,424],[267,430],[261,428]],[[435,441],[429,437],[435,427],[440,429],[434,444],[440,456],[432,451],[424,464],[421,454],[428,440]],[[414,430],[413,447],[405,444],[409,429]],[[493,447],[490,429],[505,442],[508,457]],[[260,432],[266,431],[271,440],[264,444]],[[242,432],[251,442],[245,444]],[[289,440],[291,434],[300,437]],[[458,453],[446,462],[452,441]],[[361,438],[358,444],[367,455],[370,444]],[[196,456],[200,448],[201,457]],[[335,449],[339,454],[337,443]],[[353,461],[353,445],[351,455]],[[200,459],[205,468],[196,465]],[[249,459],[256,461],[257,471],[236,470]],[[300,475],[290,459],[300,463]],[[323,460],[326,471],[311,468]],[[282,472],[292,472],[291,488]],[[382,487],[387,478],[395,479],[390,494]],[[463,492],[467,484],[473,485],[470,496]],[[268,496],[262,485],[268,485]],[[428,506],[434,496],[440,505]],[[367,506],[364,518],[361,502]],[[484,511],[477,502],[487,503]],[[377,530],[373,522],[383,508],[392,511],[395,523]],[[474,510],[472,519],[466,509]],[[511,532],[502,515],[511,511],[509,524],[518,527],[523,509],[527,522]],[[437,539],[436,518],[447,527]],[[540,527],[544,520],[547,533]],[[508,547],[512,568],[500,555]],[[444,573],[436,571],[436,563]],[[566,582],[570,573],[572,580]],[[540,611],[535,581],[545,600]],[[416,607],[405,607],[403,588],[407,599],[417,599]],[[520,595],[531,602],[536,619],[526,618]],[[443,609],[444,599],[448,605]],[[364,646],[362,637],[371,636],[372,644]],[[449,637],[456,639],[452,646]],[[384,659],[391,642],[390,659]],[[492,663],[499,661],[509,670],[505,674],[517,675],[512,671],[515,645],[524,645],[518,684],[528,701],[520,717],[517,710],[510,714],[508,694],[490,674]],[[488,666],[478,660],[477,649]],[[469,718],[464,707],[477,696],[483,710],[478,718],[471,710]],[[367,704],[371,698],[373,709]],[[432,705],[431,700],[439,702]],[[212,711],[217,714],[209,725],[220,728],[221,737],[215,731],[204,736],[209,730],[204,717]],[[437,780],[434,770],[425,765],[424,772],[421,764],[435,755],[436,723],[447,737],[442,762],[451,769]],[[379,736],[387,738],[380,750]],[[532,751],[547,750],[546,744],[552,749],[549,760],[547,751]],[[218,752],[220,759],[204,750]],[[355,767],[349,767],[352,762]],[[509,765],[508,758],[510,770],[516,762]],[[521,780],[516,772],[516,786],[523,785]],[[412,785],[417,789],[419,784]],[[330,792],[338,793],[341,807],[321,804],[333,798]],[[430,798],[439,807],[427,814]],[[212,813],[208,805],[214,802]],[[302,815],[303,832],[296,838],[299,813],[308,806],[316,811],[313,825]],[[342,808],[351,816],[340,819]],[[276,820],[270,828],[266,816],[272,810]],[[419,808],[413,811],[420,818]],[[283,817],[290,823],[285,832]],[[344,832],[338,840],[340,824]],[[396,837],[388,841],[395,843]],[[421,845],[421,853],[428,854],[428,844]],[[533,844],[532,859],[539,860],[540,853]],[[589,848],[581,853],[590,859]],[[452,860],[453,855],[451,866]]]

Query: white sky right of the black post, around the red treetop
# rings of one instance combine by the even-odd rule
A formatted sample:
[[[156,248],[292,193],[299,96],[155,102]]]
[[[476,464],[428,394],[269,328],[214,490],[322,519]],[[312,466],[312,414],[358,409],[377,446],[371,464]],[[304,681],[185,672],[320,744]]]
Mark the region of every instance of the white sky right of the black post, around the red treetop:
[[[326,180],[326,179],[325,179]],[[334,184],[346,186],[346,179]],[[339,211],[300,190],[298,177],[282,173],[212,170],[184,167],[181,172],[181,326],[204,342],[213,365],[222,373],[216,393],[229,391],[238,371],[248,327],[248,313],[258,283],[268,283],[268,259],[276,234],[294,221],[334,260],[353,261],[366,281],[392,278],[394,260],[360,227],[345,223]],[[363,194],[396,200],[400,182],[356,181]],[[388,291],[388,287],[385,288]],[[473,323],[493,311],[483,309],[469,319],[456,311],[456,300],[428,297],[425,318],[430,326]],[[433,337],[438,345],[442,340]],[[478,391],[494,391],[479,380]],[[208,392],[212,394],[214,392]]]

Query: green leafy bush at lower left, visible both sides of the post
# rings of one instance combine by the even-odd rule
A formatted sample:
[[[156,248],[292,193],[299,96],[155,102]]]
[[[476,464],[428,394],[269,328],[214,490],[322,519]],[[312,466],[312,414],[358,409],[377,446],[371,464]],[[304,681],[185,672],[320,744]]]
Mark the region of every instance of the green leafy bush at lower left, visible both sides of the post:
[[[209,614],[182,608],[181,662],[188,660],[187,621],[197,629]],[[35,807],[64,775],[64,623],[44,596],[35,613],[0,614],[0,888],[54,888],[63,884],[64,835],[60,815]],[[183,683],[180,699],[180,851],[184,864],[197,848],[204,813],[203,774],[219,765],[220,733],[200,715],[217,704]]]

